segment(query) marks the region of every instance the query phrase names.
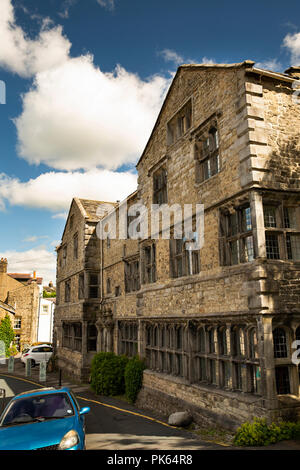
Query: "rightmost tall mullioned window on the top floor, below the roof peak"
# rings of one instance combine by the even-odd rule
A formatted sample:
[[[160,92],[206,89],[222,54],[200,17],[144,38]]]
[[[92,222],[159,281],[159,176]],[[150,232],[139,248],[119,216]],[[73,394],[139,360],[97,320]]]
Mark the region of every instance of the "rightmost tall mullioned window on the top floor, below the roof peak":
[[[202,183],[220,172],[219,136],[215,126],[196,140],[195,160],[196,183]]]

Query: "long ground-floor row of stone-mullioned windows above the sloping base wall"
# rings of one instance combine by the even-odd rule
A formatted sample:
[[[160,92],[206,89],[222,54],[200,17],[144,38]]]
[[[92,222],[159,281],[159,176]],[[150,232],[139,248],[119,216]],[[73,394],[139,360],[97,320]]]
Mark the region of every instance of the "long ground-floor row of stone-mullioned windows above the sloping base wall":
[[[176,343],[178,322],[145,321],[145,357],[146,365],[150,370],[175,375],[196,385],[212,385],[232,392],[262,395],[260,359],[258,354],[256,357],[251,357],[250,353],[252,331],[255,331],[256,338],[258,338],[255,324],[249,326],[235,323],[210,325],[197,320],[192,321],[193,326],[190,326],[189,321],[180,324],[183,328],[183,336],[182,344],[178,348],[178,342]],[[232,354],[232,330],[234,328],[238,328],[243,334],[243,355],[233,356]],[[219,343],[218,333],[222,329],[226,329],[226,354],[222,354]],[[209,352],[209,331],[212,332],[215,352]],[[181,355],[182,372],[178,367],[178,354]]]

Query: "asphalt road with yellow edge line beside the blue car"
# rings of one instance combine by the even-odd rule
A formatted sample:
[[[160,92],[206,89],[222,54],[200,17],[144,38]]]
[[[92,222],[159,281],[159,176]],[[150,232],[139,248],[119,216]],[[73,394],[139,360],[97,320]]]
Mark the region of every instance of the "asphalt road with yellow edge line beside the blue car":
[[[33,378],[16,378],[0,371],[0,388],[6,389],[7,399],[40,388],[33,382]],[[86,416],[87,450],[224,449],[218,444],[204,442],[187,431],[168,426],[125,402],[97,397],[89,390],[74,391],[80,405],[91,408]]]

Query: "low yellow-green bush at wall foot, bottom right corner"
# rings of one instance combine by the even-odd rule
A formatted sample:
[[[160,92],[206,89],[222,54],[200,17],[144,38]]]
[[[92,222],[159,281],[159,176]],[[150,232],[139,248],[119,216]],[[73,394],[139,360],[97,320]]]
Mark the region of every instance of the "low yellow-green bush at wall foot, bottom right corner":
[[[275,442],[299,438],[300,422],[282,421],[267,425],[266,419],[254,418],[252,423],[242,424],[235,434],[233,443],[237,446],[267,446]]]

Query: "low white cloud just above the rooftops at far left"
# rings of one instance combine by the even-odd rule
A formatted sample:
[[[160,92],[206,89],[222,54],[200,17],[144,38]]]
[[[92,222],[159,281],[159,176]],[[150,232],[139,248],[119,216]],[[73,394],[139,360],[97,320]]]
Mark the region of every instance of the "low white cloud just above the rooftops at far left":
[[[56,278],[56,254],[47,251],[44,247],[38,247],[26,251],[7,250],[1,251],[0,257],[7,258],[8,272],[33,273],[43,277],[43,284],[50,281],[55,283]]]

